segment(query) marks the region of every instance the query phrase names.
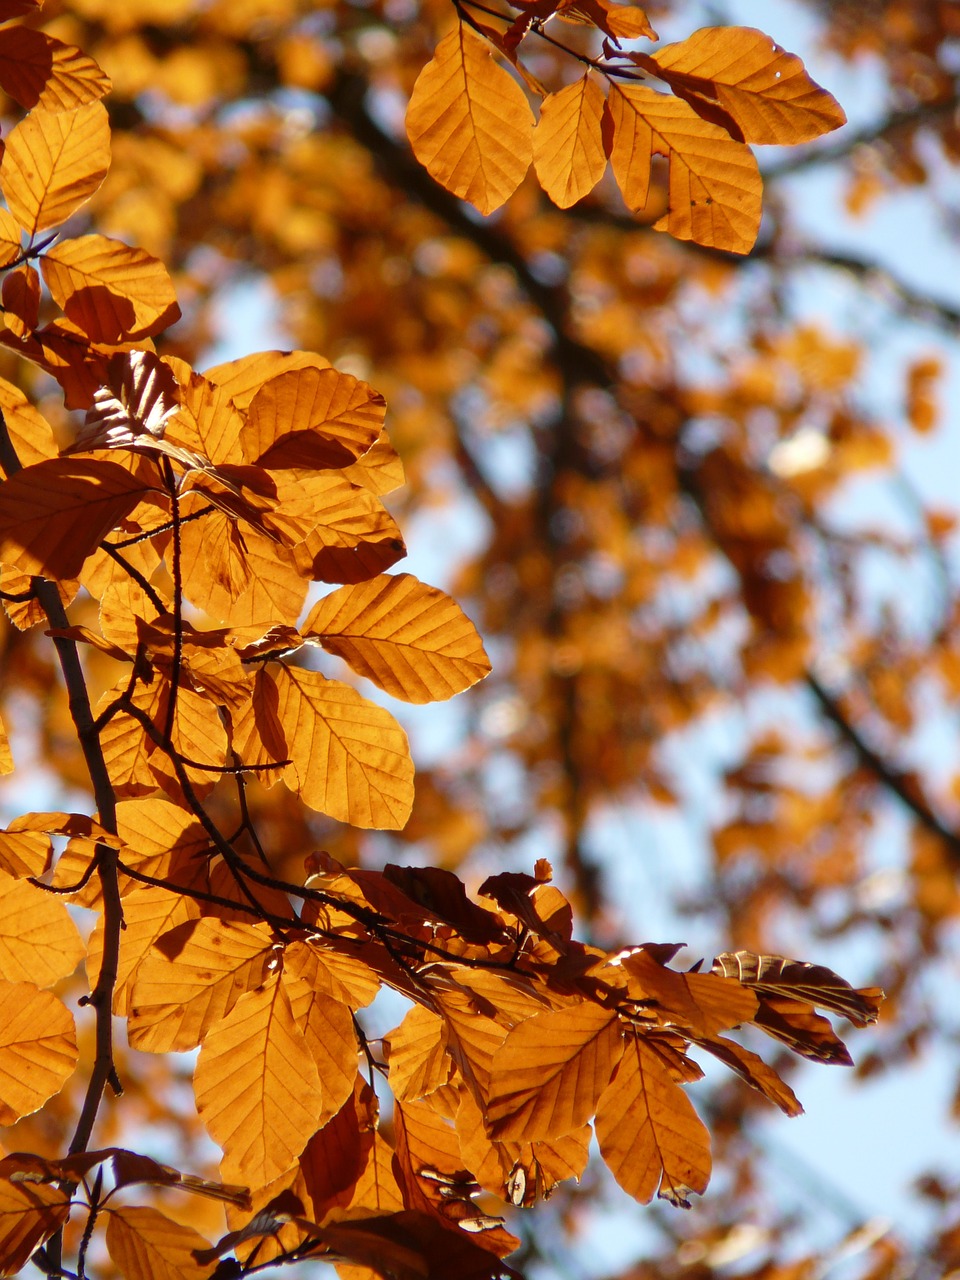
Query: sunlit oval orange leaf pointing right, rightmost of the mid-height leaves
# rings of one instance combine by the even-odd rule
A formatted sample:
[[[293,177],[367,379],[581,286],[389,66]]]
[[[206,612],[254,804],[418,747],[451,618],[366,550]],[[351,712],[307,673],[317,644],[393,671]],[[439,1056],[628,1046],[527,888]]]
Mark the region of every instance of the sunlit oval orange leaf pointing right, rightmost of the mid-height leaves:
[[[456,600],[411,573],[340,588],[320,600],[301,630],[411,703],[452,698],[490,671],[483,641]]]

